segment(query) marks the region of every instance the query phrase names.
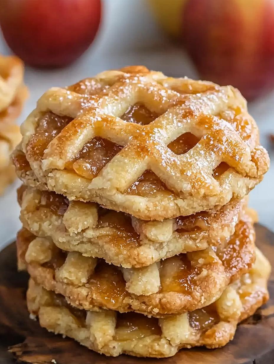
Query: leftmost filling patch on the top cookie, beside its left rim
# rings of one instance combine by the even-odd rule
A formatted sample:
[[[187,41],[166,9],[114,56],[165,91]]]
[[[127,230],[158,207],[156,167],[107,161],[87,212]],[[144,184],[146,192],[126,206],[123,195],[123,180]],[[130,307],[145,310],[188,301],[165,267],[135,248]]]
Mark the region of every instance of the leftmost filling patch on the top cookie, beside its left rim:
[[[27,152],[30,157],[39,161],[44,155],[45,149],[60,131],[73,119],[68,116],[59,116],[53,112],[45,113],[37,125],[36,131],[31,135],[27,145]]]

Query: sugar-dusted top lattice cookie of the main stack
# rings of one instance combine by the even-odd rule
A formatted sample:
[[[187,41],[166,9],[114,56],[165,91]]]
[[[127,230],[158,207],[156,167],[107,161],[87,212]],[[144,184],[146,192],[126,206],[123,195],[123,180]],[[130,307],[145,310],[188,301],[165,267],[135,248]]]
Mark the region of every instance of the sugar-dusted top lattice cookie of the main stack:
[[[269,167],[237,90],[140,66],[50,89],[21,132],[44,188],[145,220],[221,207]]]

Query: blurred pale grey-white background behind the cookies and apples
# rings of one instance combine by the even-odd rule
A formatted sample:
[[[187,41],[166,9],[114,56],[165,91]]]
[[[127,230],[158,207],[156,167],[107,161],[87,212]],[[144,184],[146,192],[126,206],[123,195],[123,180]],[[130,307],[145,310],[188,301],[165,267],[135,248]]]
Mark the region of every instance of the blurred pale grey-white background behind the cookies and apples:
[[[143,0],[105,0],[104,16],[92,46],[74,64],[58,70],[35,70],[26,67],[25,83],[30,97],[20,124],[35,108],[36,100],[52,86],[73,84],[100,71],[126,65],[143,64],[150,69],[163,71],[170,76],[197,78],[191,62],[184,52],[171,44],[170,39],[158,28]],[[134,35],[134,37],[132,36]],[[0,53],[11,54],[0,34]],[[274,92],[264,99],[249,104],[249,111],[261,130],[261,143],[274,156],[269,134],[274,134]],[[274,230],[274,167],[264,181],[250,193],[250,206],[259,213],[259,221]],[[16,188],[19,181],[0,197],[0,248],[12,241],[20,228],[19,206]]]

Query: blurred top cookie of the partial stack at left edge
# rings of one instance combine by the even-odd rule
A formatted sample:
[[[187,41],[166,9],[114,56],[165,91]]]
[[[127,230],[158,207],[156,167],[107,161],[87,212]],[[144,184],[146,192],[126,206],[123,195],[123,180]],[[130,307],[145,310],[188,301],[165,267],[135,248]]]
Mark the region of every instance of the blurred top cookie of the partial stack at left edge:
[[[15,100],[23,84],[24,64],[15,57],[0,55],[0,112]]]

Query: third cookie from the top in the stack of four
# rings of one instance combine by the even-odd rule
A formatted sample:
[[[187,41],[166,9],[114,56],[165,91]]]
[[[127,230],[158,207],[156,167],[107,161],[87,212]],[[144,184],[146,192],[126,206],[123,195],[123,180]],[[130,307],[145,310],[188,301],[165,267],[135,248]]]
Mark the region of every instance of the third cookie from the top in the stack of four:
[[[180,254],[143,268],[118,268],[104,260],[65,253],[51,240],[17,237],[18,256],[31,277],[63,294],[72,305],[162,316],[194,310],[215,301],[227,284],[254,262],[254,230],[246,218],[218,247]],[[24,257],[25,254],[25,257]]]

